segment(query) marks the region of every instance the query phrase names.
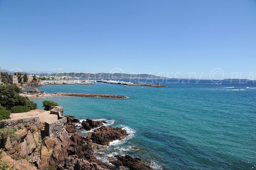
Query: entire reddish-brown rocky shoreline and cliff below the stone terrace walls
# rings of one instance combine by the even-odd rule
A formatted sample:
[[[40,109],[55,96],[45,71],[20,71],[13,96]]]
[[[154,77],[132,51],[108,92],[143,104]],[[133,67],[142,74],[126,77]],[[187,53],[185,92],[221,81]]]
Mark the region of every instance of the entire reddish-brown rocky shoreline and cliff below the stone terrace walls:
[[[153,170],[139,158],[129,155],[108,157],[108,162],[97,159],[94,150],[105,147],[109,142],[124,139],[128,134],[121,128],[102,126],[103,122],[87,119],[83,129],[96,128],[86,137],[80,136],[76,123],[81,123],[74,116],[65,116],[65,129],[58,137],[42,136],[39,127],[20,127],[12,135],[1,136],[0,161],[10,164],[17,170],[56,169],[56,170]],[[105,124],[106,122],[104,122]],[[14,137],[17,138],[14,138]],[[39,141],[43,138],[42,144]],[[13,139],[12,139],[13,138]],[[41,159],[38,163],[32,158],[40,148]],[[18,161],[17,161],[18,160]],[[20,164],[22,163],[22,164]],[[34,163],[34,164],[31,164]]]

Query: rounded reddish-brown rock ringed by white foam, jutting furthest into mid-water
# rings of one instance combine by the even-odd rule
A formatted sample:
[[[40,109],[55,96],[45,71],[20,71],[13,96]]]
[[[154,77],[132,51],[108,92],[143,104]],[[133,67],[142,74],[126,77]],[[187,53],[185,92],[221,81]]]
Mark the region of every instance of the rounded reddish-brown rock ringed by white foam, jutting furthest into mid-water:
[[[102,126],[94,130],[91,134],[91,140],[96,144],[106,146],[109,145],[109,142],[124,139],[126,136],[126,130],[119,127],[114,128],[112,126]]]

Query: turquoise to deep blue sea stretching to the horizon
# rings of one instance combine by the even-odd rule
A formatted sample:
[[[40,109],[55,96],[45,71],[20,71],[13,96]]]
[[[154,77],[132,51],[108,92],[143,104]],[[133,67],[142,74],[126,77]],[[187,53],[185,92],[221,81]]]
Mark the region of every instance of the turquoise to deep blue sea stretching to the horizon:
[[[126,80],[126,79],[124,79]],[[129,80],[130,81],[130,80]],[[47,98],[64,115],[105,119],[129,136],[98,150],[140,157],[156,170],[245,170],[256,168],[256,83],[188,79],[132,79],[166,88],[95,83],[44,85],[46,93],[119,94],[129,99]],[[231,88],[234,87],[234,88]],[[245,89],[245,87],[249,87]],[[244,89],[239,90],[239,89]],[[26,89],[24,91],[27,91]],[[59,100],[60,98],[60,100]],[[42,107],[46,98],[33,99]],[[83,131],[86,135],[87,132]],[[95,155],[98,155],[98,153]]]

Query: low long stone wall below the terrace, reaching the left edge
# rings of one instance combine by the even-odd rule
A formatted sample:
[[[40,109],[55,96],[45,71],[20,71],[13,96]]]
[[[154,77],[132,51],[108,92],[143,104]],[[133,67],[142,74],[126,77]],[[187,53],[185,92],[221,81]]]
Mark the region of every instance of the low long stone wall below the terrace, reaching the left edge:
[[[18,127],[18,126],[24,126],[24,124],[28,124],[30,126],[39,126],[39,117],[32,117],[32,118],[23,118],[23,119],[17,119],[17,120],[3,120],[0,121],[5,122],[4,127]]]

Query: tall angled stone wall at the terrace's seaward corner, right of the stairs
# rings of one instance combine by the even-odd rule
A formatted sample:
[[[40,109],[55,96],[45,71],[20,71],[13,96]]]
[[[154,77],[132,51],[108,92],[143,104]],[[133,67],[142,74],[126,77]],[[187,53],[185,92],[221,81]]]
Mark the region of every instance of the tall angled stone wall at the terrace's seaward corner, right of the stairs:
[[[66,131],[65,124],[67,123],[67,118],[62,117],[61,119],[57,120],[56,122],[53,122],[51,124],[48,124],[45,122],[45,132],[47,136],[50,137],[58,137],[59,133]]]

